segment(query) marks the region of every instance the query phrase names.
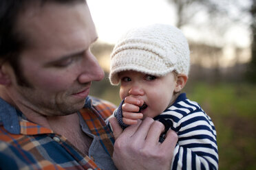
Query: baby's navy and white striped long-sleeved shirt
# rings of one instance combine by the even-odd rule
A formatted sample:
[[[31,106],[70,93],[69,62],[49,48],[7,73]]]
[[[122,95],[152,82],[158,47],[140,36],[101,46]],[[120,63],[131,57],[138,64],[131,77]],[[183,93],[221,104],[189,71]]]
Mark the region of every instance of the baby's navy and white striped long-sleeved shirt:
[[[119,117],[121,105],[114,112]],[[171,169],[218,169],[216,131],[211,118],[201,106],[182,93],[162,114],[154,117],[166,131],[171,128],[178,134]],[[123,126],[123,125],[122,125]]]

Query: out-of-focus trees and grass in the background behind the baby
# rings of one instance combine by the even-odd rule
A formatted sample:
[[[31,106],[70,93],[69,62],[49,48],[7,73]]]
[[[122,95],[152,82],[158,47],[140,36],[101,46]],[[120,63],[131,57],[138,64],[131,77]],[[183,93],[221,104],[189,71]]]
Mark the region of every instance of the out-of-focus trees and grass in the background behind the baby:
[[[198,101],[215,123],[220,169],[256,169],[256,0],[167,0],[180,29],[211,34],[189,39],[191,71],[183,92]],[[249,47],[228,45],[224,37],[239,25],[250,32]],[[239,34],[239,33],[238,33]],[[119,87],[108,80],[114,45],[96,42],[92,53],[105,70],[90,95],[118,105]]]

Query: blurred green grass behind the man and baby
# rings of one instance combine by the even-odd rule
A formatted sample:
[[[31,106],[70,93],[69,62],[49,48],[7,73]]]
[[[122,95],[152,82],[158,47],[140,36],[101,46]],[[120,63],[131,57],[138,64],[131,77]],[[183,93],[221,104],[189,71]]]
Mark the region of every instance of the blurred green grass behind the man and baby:
[[[97,94],[94,89],[92,95],[118,104],[118,87],[104,86],[104,91]],[[189,99],[202,106],[215,124],[219,169],[256,169],[256,86],[198,82],[188,84],[184,91]]]

